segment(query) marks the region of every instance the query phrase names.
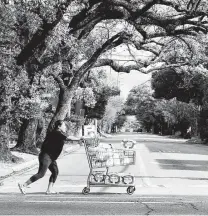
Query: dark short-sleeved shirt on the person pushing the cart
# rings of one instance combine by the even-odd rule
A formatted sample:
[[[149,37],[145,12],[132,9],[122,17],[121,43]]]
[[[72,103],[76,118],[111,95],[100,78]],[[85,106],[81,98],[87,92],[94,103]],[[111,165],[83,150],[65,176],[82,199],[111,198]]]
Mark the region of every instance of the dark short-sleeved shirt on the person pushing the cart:
[[[41,153],[47,153],[52,160],[56,160],[64,146],[67,136],[60,131],[52,131],[48,133],[41,147]]]

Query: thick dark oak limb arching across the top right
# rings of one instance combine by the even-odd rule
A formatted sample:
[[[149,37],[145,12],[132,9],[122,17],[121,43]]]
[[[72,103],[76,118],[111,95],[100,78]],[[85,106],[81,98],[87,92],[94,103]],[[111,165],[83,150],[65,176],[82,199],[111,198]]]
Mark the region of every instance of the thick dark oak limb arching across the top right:
[[[144,6],[142,6],[141,2],[128,2],[127,0],[103,0],[95,1],[95,3],[97,3],[96,8],[93,8],[93,10],[83,9],[78,15],[73,17],[70,22],[70,27],[72,28],[71,33],[79,35],[79,38],[88,35],[98,22],[105,19],[126,20],[131,25],[135,26],[145,40],[147,32],[142,26],[156,25],[170,34],[178,26],[187,24],[186,22],[188,20],[206,15],[205,12],[199,10],[190,13],[186,8],[185,3],[176,3],[173,0],[149,0],[144,3]],[[150,9],[157,4],[174,8],[178,13],[177,16],[170,18],[165,14],[159,16],[158,14],[153,13]],[[198,28],[204,28],[204,26],[198,24]],[[194,30],[198,31],[199,29],[195,28]]]

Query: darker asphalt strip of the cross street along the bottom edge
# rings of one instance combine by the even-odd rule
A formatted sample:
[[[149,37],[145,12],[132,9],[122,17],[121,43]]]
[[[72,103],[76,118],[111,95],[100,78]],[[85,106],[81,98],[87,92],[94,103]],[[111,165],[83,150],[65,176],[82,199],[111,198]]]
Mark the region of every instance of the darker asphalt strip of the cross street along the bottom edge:
[[[204,197],[118,194],[1,195],[0,215],[207,215]]]

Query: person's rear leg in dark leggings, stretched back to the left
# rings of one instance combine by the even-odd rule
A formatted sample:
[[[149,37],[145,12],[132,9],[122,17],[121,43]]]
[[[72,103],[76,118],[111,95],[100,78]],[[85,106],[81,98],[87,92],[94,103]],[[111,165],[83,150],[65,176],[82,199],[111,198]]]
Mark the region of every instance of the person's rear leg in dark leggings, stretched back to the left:
[[[20,191],[25,194],[25,188],[32,184],[33,182],[37,181],[38,179],[42,178],[50,164],[52,163],[52,160],[50,156],[47,153],[40,153],[39,155],[39,169],[38,173],[33,175],[30,179],[28,179],[24,184],[18,184]]]

